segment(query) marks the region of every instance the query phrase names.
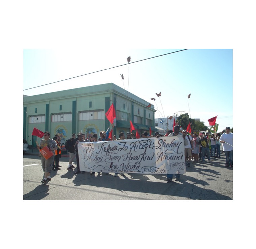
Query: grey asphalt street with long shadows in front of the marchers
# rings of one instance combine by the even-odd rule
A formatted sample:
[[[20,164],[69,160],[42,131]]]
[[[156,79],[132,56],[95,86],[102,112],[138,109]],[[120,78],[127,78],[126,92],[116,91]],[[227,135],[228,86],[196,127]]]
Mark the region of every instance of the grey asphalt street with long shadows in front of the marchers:
[[[44,185],[38,150],[30,149],[23,156],[23,200],[232,200],[233,170],[225,168],[224,153],[205,162],[192,162],[180,181],[166,182],[166,175],[75,175],[62,155],[61,170],[52,171],[52,180]]]

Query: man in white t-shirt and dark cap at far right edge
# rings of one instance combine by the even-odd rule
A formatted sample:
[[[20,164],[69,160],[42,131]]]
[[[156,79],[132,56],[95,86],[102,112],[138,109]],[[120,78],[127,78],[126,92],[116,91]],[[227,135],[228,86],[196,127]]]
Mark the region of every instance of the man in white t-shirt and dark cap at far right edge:
[[[230,165],[230,168],[233,169],[233,133],[230,133],[230,127],[226,127],[226,133],[220,136],[220,142],[226,156],[225,167]]]

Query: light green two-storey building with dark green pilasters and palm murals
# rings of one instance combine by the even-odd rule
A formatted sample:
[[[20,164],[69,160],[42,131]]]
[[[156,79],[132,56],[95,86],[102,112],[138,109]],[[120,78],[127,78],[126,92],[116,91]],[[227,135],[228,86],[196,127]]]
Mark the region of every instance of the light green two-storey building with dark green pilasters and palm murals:
[[[51,137],[60,134],[62,143],[72,133],[83,132],[87,138],[106,131],[111,124],[105,113],[114,103],[116,126],[113,135],[130,131],[130,120],[139,134],[154,127],[154,105],[147,107],[148,102],[127,92],[114,83],[86,86],[54,93],[23,97],[24,125],[23,138],[29,145],[36,146],[41,138],[32,136],[34,127]]]

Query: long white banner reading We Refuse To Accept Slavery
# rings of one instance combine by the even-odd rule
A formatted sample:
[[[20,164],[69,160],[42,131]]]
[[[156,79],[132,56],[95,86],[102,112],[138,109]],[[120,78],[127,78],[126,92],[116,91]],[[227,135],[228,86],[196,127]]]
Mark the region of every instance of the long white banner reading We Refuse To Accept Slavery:
[[[81,171],[186,173],[182,136],[78,142],[77,147]]]

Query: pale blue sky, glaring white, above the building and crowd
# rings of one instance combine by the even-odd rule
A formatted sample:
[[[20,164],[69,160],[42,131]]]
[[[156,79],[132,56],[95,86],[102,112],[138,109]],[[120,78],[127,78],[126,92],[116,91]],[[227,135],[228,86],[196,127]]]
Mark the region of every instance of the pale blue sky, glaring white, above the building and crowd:
[[[31,88],[181,49],[24,49],[24,88]],[[113,82],[155,106],[155,117],[216,115],[219,130],[233,127],[232,49],[188,49],[23,91],[37,95]],[[124,75],[122,80],[120,74]],[[161,97],[156,93],[161,92]],[[221,93],[225,92],[225,100]],[[188,95],[191,97],[188,99]],[[156,98],[156,101],[150,100]]]

